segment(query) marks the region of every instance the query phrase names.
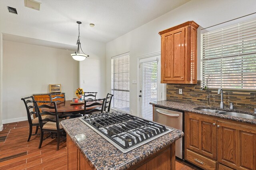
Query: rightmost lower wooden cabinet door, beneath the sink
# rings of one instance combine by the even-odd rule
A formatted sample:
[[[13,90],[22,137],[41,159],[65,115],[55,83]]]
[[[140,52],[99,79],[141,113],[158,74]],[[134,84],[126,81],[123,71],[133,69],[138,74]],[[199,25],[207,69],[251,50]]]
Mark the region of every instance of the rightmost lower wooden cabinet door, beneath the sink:
[[[218,162],[234,169],[256,169],[256,130],[218,122]]]

